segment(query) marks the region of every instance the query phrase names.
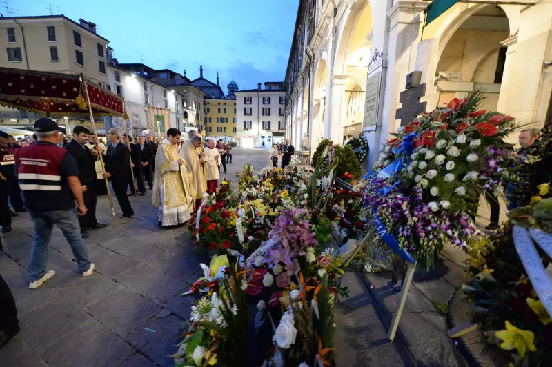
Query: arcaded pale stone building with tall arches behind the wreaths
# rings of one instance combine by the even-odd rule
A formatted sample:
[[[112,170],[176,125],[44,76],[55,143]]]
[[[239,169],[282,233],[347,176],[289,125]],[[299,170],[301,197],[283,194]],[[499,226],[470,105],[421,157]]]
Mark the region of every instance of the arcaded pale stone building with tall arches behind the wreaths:
[[[535,127],[550,121],[551,1],[453,2],[424,26],[428,3],[299,1],[285,79],[286,137],[296,147],[308,141],[312,154],[322,138],[364,134],[370,168],[406,112],[477,89],[483,109]],[[401,101],[406,88],[413,105]]]

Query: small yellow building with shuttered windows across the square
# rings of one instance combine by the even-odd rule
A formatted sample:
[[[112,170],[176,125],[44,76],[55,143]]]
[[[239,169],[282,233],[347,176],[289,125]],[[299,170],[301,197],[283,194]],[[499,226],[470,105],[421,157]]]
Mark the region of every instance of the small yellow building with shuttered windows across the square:
[[[204,99],[205,130],[207,136],[236,140],[236,100]]]

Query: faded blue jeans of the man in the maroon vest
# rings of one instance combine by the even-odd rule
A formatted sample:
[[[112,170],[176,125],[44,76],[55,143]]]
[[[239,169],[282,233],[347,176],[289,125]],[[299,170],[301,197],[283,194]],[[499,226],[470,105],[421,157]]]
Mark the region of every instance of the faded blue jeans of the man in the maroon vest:
[[[48,261],[48,244],[52,238],[52,229],[54,224],[61,229],[63,236],[71,245],[71,250],[77,259],[79,270],[85,272],[90,269],[90,260],[88,260],[88,250],[81,237],[81,227],[77,209],[55,210],[52,212],[32,212],[29,211],[30,218],[34,224],[34,241],[32,241],[32,250],[29,261],[30,281],[42,279],[46,272],[46,262]]]

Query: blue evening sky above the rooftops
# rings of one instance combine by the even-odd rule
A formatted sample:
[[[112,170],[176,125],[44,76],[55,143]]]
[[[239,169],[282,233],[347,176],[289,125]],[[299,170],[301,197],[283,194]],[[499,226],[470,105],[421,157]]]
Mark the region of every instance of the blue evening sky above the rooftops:
[[[240,89],[283,81],[299,0],[43,0],[74,21],[96,23],[121,63],[170,68],[188,78],[216,81],[226,93],[234,77]],[[48,15],[38,0],[8,3],[17,16]],[[0,5],[0,12],[5,9]],[[11,14],[10,14],[11,15]]]

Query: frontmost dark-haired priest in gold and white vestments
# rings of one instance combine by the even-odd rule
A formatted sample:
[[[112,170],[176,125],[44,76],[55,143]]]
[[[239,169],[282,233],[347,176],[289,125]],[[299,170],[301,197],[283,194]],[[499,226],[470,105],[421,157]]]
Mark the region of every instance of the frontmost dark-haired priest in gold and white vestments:
[[[155,156],[152,205],[159,208],[157,220],[164,227],[186,223],[193,211],[190,177],[176,148],[180,137],[178,129],[168,129]]]

